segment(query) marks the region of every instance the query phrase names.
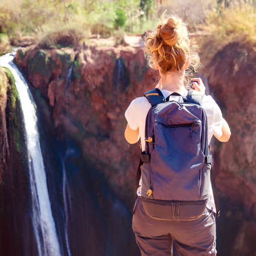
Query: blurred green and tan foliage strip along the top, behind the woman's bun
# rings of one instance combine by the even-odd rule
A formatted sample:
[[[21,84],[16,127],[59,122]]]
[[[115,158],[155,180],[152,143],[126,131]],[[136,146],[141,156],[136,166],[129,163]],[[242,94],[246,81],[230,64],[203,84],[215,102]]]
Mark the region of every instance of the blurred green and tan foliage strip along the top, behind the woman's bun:
[[[0,33],[7,34],[12,41],[22,36],[41,39],[57,31],[71,30],[83,38],[90,37],[91,33],[115,35],[120,28],[126,33],[143,34],[155,28],[157,16],[165,8],[188,23],[193,17],[201,17],[197,20],[203,23],[206,10],[215,7],[215,15],[225,15],[229,9],[226,7],[240,2],[250,2],[254,7],[256,3],[255,0],[172,0],[160,5],[156,0],[1,0]],[[54,45],[62,46],[58,42]]]

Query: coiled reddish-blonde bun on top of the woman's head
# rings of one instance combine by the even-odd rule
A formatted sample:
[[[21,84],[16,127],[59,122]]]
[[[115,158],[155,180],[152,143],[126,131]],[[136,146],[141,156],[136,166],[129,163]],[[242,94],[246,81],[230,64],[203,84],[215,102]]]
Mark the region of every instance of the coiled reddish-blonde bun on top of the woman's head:
[[[178,34],[176,32],[177,24],[173,18],[168,18],[164,25],[158,25],[158,36],[162,37],[164,44],[168,46],[175,46],[178,41]]]

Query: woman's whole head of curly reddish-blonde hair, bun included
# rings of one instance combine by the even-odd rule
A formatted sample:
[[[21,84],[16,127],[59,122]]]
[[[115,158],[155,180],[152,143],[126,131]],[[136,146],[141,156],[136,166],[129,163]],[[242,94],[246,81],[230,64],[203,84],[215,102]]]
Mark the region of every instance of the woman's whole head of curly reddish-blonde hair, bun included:
[[[146,39],[146,51],[150,53],[150,66],[157,65],[161,72],[180,71],[189,56],[188,71],[195,72],[200,65],[197,47],[188,38],[186,25],[180,18],[170,16],[164,20],[165,12],[157,30],[150,32]]]

